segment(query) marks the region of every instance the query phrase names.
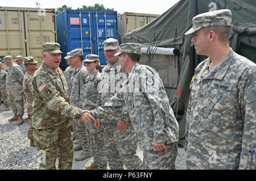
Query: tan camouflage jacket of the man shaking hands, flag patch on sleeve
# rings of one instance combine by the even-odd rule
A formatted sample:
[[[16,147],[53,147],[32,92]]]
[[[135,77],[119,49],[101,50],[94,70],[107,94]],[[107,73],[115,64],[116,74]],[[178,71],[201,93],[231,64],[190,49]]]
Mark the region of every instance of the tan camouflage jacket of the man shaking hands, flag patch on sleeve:
[[[60,68],[53,70],[43,63],[34,73],[32,91],[33,128],[49,128],[81,117],[81,110],[69,104],[68,86]]]

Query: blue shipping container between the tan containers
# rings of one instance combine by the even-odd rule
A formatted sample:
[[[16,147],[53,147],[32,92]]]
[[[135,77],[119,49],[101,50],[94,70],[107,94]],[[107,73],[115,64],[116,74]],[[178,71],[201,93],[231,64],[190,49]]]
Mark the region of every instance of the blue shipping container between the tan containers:
[[[56,15],[57,42],[62,59],[60,68],[67,68],[64,57],[67,52],[80,48],[87,54],[100,56],[101,68],[106,66],[103,42],[117,39],[117,11],[65,10]]]

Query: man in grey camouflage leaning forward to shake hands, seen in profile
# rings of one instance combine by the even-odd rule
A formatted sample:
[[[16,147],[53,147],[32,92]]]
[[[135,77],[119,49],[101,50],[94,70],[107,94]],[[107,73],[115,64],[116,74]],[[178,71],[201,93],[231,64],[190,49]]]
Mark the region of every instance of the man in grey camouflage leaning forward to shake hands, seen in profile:
[[[138,64],[140,44],[121,44],[115,56],[120,57],[121,69],[129,73],[129,78],[108,102],[90,111],[91,115],[104,119],[126,107],[143,150],[143,168],[175,169],[179,125],[162,80],[153,68]],[[95,123],[101,127],[98,121]]]

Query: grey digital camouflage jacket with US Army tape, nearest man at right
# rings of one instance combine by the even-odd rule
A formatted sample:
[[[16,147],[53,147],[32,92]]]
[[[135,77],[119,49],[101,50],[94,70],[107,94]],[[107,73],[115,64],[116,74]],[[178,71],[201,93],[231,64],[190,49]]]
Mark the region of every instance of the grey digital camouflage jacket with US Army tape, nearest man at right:
[[[187,169],[256,169],[256,65],[232,49],[212,73],[209,63],[190,86]]]

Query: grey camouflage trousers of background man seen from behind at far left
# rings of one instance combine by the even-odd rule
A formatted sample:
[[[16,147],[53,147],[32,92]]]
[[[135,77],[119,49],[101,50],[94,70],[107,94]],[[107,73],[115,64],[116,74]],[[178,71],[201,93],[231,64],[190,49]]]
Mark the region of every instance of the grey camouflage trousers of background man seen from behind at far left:
[[[15,91],[15,92],[8,92],[10,106],[13,110],[14,114],[23,115],[24,114],[24,96],[23,91]]]

